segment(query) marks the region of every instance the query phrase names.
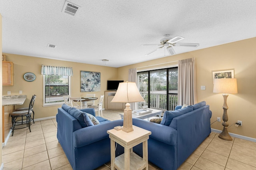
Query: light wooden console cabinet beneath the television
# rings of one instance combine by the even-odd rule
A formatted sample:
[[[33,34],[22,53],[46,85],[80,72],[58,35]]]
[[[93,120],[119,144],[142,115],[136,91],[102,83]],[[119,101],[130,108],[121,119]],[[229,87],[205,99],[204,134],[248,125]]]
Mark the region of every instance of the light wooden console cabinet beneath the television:
[[[105,91],[105,110],[122,110],[125,109],[125,103],[111,102],[116,91]]]

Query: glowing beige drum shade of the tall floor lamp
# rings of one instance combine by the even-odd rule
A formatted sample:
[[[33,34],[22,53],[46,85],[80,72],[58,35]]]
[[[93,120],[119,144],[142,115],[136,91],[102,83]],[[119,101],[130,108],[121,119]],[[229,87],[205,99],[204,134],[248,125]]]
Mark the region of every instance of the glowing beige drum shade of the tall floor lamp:
[[[213,93],[236,94],[236,79],[214,79]]]

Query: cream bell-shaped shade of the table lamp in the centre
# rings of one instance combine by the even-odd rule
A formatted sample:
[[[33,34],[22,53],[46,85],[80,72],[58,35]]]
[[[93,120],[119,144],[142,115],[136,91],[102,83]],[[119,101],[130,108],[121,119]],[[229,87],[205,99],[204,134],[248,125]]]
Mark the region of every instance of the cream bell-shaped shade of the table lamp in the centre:
[[[138,87],[135,82],[123,82],[119,83],[118,89],[116,91],[116,95],[112,99],[111,102],[119,102],[119,103],[132,103],[132,102],[140,102],[145,101],[143,97],[140,95]]]

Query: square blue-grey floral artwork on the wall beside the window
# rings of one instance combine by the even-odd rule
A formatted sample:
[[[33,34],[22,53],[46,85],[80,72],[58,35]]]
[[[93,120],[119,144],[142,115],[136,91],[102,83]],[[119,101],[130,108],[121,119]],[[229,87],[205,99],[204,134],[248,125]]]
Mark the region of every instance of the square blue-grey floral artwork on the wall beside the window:
[[[100,91],[100,73],[81,71],[81,92]]]

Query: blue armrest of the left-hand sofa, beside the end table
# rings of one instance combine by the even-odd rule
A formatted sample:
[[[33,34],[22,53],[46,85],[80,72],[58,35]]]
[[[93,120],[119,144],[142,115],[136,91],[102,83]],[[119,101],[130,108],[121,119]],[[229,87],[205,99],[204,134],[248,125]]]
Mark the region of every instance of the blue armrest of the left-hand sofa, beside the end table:
[[[97,142],[104,138],[109,138],[107,130],[122,125],[123,120],[116,120],[78,129],[75,132],[73,132],[74,147],[79,148]]]

